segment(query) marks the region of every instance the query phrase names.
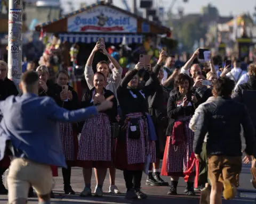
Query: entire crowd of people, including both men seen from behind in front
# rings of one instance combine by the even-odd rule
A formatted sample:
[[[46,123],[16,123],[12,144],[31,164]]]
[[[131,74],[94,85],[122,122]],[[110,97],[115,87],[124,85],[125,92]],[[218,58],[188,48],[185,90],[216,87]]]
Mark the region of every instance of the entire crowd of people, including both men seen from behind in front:
[[[109,62],[98,62],[94,72],[97,52]],[[222,69],[219,58],[210,56],[202,67],[198,56],[199,49],[179,67],[175,57],[162,49],[151,67],[142,53],[134,69],[122,77],[123,68],[98,42],[85,65],[89,89],[82,100],[69,86],[69,73],[59,70],[52,81],[46,64],[23,73],[22,95],[17,96],[14,83],[6,78],[7,64],[0,61],[1,175],[9,168],[8,191],[2,182],[0,193],[9,194],[9,203],[26,203],[34,188],[39,203],[50,203],[52,176],[58,176],[58,167],[62,167],[65,194],[75,194],[71,168],[77,166],[83,168],[81,197],[92,196],[92,169],[95,197],[103,196],[107,169],[109,193],[120,193],[115,185],[116,169],[120,169],[128,199],[147,198],[141,191],[144,171],[147,185],[169,186],[161,175],[169,176],[167,194],[177,194],[183,177],[185,194],[195,195],[198,183],[200,203],[219,204],[222,191],[225,199],[235,197],[242,151],[243,162],[252,161],[256,186],[256,120],[253,99],[248,98],[254,92],[246,92],[256,90],[256,64],[244,70],[234,58]],[[38,180],[42,176],[44,182]]]

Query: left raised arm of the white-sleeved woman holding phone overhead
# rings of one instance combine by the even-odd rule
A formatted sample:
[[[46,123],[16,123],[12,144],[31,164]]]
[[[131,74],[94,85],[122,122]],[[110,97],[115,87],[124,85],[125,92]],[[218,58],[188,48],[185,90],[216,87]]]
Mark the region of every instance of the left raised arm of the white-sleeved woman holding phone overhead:
[[[89,87],[89,89],[93,88],[93,70],[92,70],[92,62],[93,62],[93,58],[95,53],[97,53],[97,51],[101,48],[100,44],[96,44],[95,47],[93,48],[87,62],[84,68],[84,78],[86,80],[87,86]]]

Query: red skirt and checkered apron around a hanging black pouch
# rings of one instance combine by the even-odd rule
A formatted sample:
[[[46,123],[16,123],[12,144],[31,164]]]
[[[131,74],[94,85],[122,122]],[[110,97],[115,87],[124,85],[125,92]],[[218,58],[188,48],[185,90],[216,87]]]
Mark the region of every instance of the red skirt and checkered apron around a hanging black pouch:
[[[117,139],[116,168],[127,171],[142,171],[147,154],[151,156],[151,163],[156,161],[155,141],[149,139],[147,118],[142,113],[130,113],[126,115],[126,118],[139,118],[140,138],[129,138],[130,122],[126,120],[125,139]]]

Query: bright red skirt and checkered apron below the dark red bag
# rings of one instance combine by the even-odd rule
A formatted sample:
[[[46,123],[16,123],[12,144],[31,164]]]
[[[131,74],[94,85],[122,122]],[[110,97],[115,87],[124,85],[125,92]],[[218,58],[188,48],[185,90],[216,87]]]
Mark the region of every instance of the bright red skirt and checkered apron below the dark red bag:
[[[190,168],[188,161],[193,152],[194,132],[189,129],[190,117],[181,117],[178,121],[184,123],[185,140],[175,146],[172,145],[172,137],[167,137],[161,172],[163,176],[183,176],[183,173]]]

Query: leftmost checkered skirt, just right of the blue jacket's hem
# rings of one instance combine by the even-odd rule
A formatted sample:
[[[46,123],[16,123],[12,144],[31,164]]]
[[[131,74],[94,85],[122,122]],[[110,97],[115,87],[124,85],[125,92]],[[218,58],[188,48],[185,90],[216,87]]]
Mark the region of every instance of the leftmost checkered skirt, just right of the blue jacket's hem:
[[[73,128],[72,123],[60,123],[60,141],[63,154],[68,166],[76,166],[76,157],[78,149],[77,131]]]

